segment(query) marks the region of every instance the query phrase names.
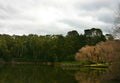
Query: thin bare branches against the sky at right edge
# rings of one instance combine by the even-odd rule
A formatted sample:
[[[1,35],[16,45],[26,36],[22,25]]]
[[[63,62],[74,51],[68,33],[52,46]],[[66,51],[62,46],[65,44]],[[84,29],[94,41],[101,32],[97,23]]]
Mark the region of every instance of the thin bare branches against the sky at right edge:
[[[115,11],[113,35],[120,39],[120,4],[118,4],[118,8]]]

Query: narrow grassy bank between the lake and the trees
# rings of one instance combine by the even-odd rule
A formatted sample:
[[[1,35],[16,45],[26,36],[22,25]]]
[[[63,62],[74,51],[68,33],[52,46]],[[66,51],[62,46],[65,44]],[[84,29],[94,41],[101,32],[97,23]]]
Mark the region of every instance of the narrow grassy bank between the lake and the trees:
[[[0,64],[38,64],[38,65],[54,65],[64,67],[94,67],[94,68],[107,68],[109,65],[105,63],[91,63],[91,62],[78,62],[78,61],[64,61],[64,62],[42,62],[24,59],[14,59],[12,61],[4,61],[0,59]]]

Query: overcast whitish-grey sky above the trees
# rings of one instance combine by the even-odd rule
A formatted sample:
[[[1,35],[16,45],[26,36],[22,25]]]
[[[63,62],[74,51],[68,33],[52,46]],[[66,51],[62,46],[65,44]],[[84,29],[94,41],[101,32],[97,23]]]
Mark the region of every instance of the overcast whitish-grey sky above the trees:
[[[113,24],[120,0],[0,0],[0,34],[66,34]]]

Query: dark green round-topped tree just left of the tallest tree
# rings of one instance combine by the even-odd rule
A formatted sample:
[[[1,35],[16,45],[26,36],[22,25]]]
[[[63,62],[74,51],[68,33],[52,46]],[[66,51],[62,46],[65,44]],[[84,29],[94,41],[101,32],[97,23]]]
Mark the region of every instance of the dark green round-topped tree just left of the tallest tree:
[[[67,57],[74,56],[78,51],[80,43],[80,36],[76,30],[69,31],[65,37],[65,54]]]

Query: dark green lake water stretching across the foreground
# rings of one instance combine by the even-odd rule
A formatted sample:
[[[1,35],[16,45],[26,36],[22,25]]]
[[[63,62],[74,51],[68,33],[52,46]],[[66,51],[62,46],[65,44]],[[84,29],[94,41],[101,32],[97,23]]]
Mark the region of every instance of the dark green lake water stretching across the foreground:
[[[105,69],[0,65],[0,83],[120,83],[104,80]]]

